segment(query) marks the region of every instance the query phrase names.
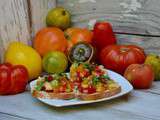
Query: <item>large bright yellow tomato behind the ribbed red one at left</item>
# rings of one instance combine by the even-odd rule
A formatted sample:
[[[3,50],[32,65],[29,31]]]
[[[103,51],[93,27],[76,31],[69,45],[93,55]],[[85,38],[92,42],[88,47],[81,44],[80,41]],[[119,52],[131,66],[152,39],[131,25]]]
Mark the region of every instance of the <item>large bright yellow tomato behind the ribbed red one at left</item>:
[[[5,62],[13,65],[24,65],[29,73],[29,79],[38,77],[42,72],[42,59],[32,47],[21,42],[12,42],[5,52]]]

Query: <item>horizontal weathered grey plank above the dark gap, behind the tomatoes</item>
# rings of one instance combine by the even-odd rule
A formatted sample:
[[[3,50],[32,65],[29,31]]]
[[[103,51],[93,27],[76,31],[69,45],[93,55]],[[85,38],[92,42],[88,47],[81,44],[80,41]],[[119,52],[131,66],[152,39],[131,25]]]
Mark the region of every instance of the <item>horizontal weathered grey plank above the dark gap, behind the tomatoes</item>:
[[[71,11],[76,26],[102,19],[115,32],[160,35],[159,0],[58,0],[58,6]]]

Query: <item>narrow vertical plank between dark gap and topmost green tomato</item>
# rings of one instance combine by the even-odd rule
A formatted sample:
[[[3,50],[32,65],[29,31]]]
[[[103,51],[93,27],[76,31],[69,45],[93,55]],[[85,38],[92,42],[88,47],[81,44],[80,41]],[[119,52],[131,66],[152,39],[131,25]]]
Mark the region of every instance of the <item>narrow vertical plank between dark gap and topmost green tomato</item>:
[[[56,0],[29,0],[32,35],[43,28],[45,24],[45,18],[49,9],[56,6]]]

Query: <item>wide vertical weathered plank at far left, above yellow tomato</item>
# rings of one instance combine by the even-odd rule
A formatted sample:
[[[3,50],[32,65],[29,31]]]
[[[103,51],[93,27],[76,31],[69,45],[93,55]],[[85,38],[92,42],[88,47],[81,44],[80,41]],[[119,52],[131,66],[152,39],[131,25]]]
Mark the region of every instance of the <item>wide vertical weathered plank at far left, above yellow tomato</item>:
[[[11,41],[30,42],[28,6],[26,0],[0,1],[0,58]]]

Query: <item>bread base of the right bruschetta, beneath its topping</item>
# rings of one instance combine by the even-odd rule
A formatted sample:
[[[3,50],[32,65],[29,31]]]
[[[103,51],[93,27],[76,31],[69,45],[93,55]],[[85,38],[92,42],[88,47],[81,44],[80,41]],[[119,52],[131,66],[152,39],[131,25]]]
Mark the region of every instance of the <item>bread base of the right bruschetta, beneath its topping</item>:
[[[121,92],[121,86],[119,86],[117,84],[116,87],[114,87],[113,89],[106,90],[104,92],[96,92],[93,94],[77,93],[76,98],[78,98],[80,100],[97,100],[97,99],[101,99],[101,98],[111,97],[111,96],[116,95],[120,92]]]

